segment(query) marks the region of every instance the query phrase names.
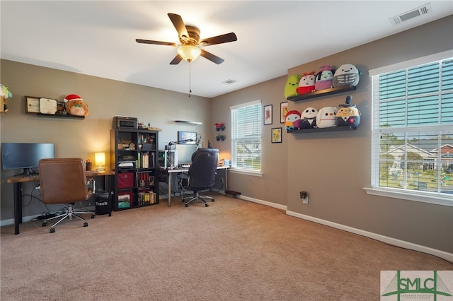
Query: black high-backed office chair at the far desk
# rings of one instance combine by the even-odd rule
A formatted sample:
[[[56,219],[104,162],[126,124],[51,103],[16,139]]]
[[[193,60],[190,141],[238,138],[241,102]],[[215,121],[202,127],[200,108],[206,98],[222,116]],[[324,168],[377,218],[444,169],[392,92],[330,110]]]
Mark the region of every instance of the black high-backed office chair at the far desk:
[[[215,201],[212,196],[201,195],[200,191],[214,186],[218,160],[219,150],[217,148],[199,148],[193,153],[192,164],[188,172],[188,189],[193,191],[194,194],[183,196],[186,207],[193,201],[203,201],[206,207],[209,206],[207,199]]]

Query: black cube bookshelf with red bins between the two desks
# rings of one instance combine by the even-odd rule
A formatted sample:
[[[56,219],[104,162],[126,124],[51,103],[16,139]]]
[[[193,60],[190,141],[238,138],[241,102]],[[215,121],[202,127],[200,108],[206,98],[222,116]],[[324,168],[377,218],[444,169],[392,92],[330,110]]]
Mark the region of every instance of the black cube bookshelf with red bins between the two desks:
[[[110,130],[114,211],[159,203],[158,136],[147,129]]]

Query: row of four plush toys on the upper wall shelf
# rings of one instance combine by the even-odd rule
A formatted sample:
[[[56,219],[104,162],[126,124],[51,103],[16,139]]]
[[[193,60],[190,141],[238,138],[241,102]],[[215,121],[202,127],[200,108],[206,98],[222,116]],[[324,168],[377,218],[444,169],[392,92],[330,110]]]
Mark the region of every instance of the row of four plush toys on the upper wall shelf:
[[[357,85],[360,71],[352,64],[343,64],[338,69],[323,65],[318,72],[293,74],[288,76],[285,85],[285,98],[303,95],[314,91],[325,90],[341,85]]]

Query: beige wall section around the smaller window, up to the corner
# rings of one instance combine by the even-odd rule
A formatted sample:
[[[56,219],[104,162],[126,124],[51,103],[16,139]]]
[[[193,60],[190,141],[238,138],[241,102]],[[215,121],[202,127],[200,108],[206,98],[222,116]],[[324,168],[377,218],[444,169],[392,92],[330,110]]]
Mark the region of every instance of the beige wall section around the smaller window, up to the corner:
[[[282,127],[280,124],[280,102],[285,102],[282,87],[286,77],[265,81],[253,87],[238,90],[233,93],[219,96],[212,101],[212,116],[216,116],[226,124],[226,136],[231,137],[230,109],[232,105],[244,102],[261,100],[261,105],[273,105],[273,124],[262,127],[262,172],[263,177],[239,175],[229,173],[229,189],[241,192],[242,196],[253,199],[287,205],[287,135],[283,134],[282,143],[270,143],[270,130],[273,127]],[[216,141],[217,142],[217,141]],[[231,141],[217,143],[220,153],[231,157]]]

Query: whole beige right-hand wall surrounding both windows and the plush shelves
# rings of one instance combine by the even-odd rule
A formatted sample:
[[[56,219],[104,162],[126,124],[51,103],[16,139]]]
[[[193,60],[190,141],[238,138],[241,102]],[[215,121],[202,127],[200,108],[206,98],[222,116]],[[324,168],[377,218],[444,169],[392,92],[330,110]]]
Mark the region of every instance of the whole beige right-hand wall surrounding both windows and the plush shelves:
[[[362,122],[356,131],[285,133],[281,146],[270,144],[271,126],[263,126],[263,150],[268,153],[263,155],[265,176],[230,175],[231,189],[252,198],[285,204],[288,211],[299,215],[453,253],[453,207],[370,196],[363,189],[370,187],[371,181],[372,94],[368,70],[453,49],[452,23],[453,17],[449,16],[289,69],[291,75],[317,71],[324,64],[355,64],[362,76],[357,90],[350,94],[362,112]],[[213,114],[224,115],[229,105],[260,98],[263,105],[273,104],[276,108],[284,101],[286,78],[215,98]],[[289,110],[338,107],[345,102],[346,95],[289,102]],[[275,122],[274,119],[273,126]],[[302,203],[299,191],[308,191],[308,205]]]

